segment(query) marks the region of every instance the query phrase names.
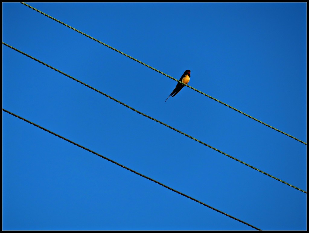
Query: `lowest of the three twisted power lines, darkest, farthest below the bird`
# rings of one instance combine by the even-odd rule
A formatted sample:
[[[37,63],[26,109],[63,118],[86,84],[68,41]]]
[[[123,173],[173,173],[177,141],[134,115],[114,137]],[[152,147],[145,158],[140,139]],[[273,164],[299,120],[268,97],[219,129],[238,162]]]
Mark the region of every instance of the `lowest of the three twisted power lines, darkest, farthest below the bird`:
[[[33,122],[30,122],[30,121],[28,121],[28,120],[26,120],[26,119],[24,119],[24,118],[22,118],[22,117],[20,117],[20,116],[18,116],[18,115],[16,115],[16,114],[12,113],[12,112],[10,112],[10,111],[7,111],[7,110],[5,110],[5,109],[3,109],[3,108],[2,108],[2,111],[6,112],[6,113],[9,113],[9,114],[11,114],[11,115],[13,115],[13,116],[15,116],[15,117],[17,117],[17,118],[19,118],[19,119],[22,119],[23,121],[28,122],[28,123],[30,123],[30,124],[32,124],[32,125],[34,125],[34,126],[40,128],[40,129],[46,131],[46,132],[49,132],[49,133],[51,133],[51,134],[53,134],[53,135],[55,135],[55,136],[57,136],[57,137],[59,137],[59,138],[61,138],[61,139],[63,139],[63,140],[66,140],[67,142],[70,142],[70,143],[74,144],[75,146],[78,146],[78,147],[80,147],[80,148],[83,148],[84,150],[89,151],[89,152],[91,152],[91,153],[93,153],[93,154],[95,154],[95,155],[97,155],[97,156],[100,156],[100,157],[103,158],[103,159],[106,159],[106,160],[108,160],[108,161],[110,161],[110,162],[112,162],[112,163],[114,163],[114,164],[116,164],[116,165],[118,165],[118,166],[120,166],[120,167],[122,167],[122,168],[125,168],[125,169],[129,170],[130,172],[133,172],[133,173],[135,173],[135,174],[137,174],[137,175],[139,175],[139,176],[141,176],[141,177],[144,177],[144,178],[146,178],[146,179],[148,179],[148,180],[150,180],[150,181],[153,181],[153,182],[155,182],[155,183],[157,183],[157,184],[163,186],[164,188],[170,189],[171,191],[173,191],[173,192],[175,192],[175,193],[178,193],[178,194],[180,194],[180,195],[182,195],[182,196],[184,196],[184,197],[186,197],[186,198],[189,198],[189,199],[191,199],[191,200],[193,200],[193,201],[195,201],[195,202],[198,202],[198,203],[202,204],[203,206],[207,206],[208,208],[210,208],[210,209],[212,209],[212,210],[215,210],[215,211],[217,211],[217,212],[219,212],[219,213],[221,213],[221,214],[224,214],[224,215],[226,215],[226,216],[228,216],[228,217],[230,217],[230,218],[233,218],[233,219],[235,219],[235,220],[237,220],[237,221],[239,221],[239,222],[241,222],[241,223],[243,223],[243,224],[246,224],[246,225],[248,225],[249,227],[252,227],[252,228],[254,228],[254,229],[256,229],[256,230],[261,231],[261,229],[259,229],[259,228],[257,228],[257,227],[254,227],[254,226],[250,225],[249,223],[246,223],[246,222],[244,222],[244,221],[242,221],[242,220],[240,220],[240,219],[238,219],[238,218],[235,218],[235,217],[233,217],[233,216],[231,216],[231,215],[229,215],[229,214],[226,214],[226,213],[224,213],[224,212],[222,212],[222,211],[220,211],[220,210],[217,210],[217,209],[215,209],[214,207],[211,207],[211,206],[209,206],[209,205],[207,205],[207,204],[205,204],[205,203],[203,203],[203,202],[200,202],[199,200],[197,200],[197,199],[195,199],[195,198],[192,198],[192,197],[190,197],[190,196],[188,196],[188,195],[186,195],[186,194],[184,194],[184,193],[181,193],[181,192],[179,192],[179,191],[177,191],[177,190],[175,190],[175,189],[172,189],[172,188],[168,187],[167,185],[163,185],[163,184],[160,183],[159,181],[155,181],[154,179],[151,179],[150,177],[146,177],[146,176],[144,176],[144,175],[141,174],[141,173],[138,173],[138,172],[136,172],[136,171],[134,171],[134,170],[132,170],[132,169],[130,169],[130,168],[128,168],[128,167],[125,167],[124,165],[121,165],[121,164],[119,164],[119,163],[117,163],[117,162],[115,162],[115,161],[113,161],[113,160],[111,160],[111,159],[109,159],[109,158],[107,158],[107,157],[105,157],[105,156],[103,156],[103,155],[100,155],[100,154],[98,154],[98,153],[96,153],[96,152],[94,152],[94,151],[92,151],[92,150],[90,150],[90,149],[88,149],[88,148],[86,148],[86,147],[83,147],[83,146],[81,146],[81,145],[79,145],[79,144],[77,144],[77,143],[75,143],[75,142],[73,142],[73,141],[71,141],[71,140],[69,140],[69,139],[66,139],[66,138],[64,138],[64,137],[62,137],[62,136],[60,136],[60,135],[58,135],[58,134],[56,134],[56,133],[54,133],[54,132],[52,132],[52,131],[49,131],[48,129],[45,129],[45,128],[43,128],[43,127],[41,127],[41,126],[39,126],[39,125],[37,125],[37,124],[35,124],[35,123],[33,123]]]

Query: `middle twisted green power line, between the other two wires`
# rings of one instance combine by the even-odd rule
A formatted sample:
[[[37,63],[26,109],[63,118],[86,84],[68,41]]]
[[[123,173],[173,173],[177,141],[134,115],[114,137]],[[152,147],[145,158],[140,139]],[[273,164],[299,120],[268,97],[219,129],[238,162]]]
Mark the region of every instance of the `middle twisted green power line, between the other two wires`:
[[[81,83],[81,84],[83,84],[83,85],[89,87],[90,89],[95,90],[96,92],[98,92],[98,93],[100,93],[100,94],[102,94],[102,95],[104,95],[104,96],[106,96],[106,97],[108,97],[108,98],[110,98],[110,99],[116,101],[117,103],[122,104],[123,106],[125,106],[125,107],[127,107],[127,108],[129,108],[129,109],[131,109],[131,110],[133,110],[133,111],[135,111],[135,112],[137,112],[137,113],[139,113],[139,114],[141,114],[141,115],[143,115],[143,116],[145,116],[145,117],[151,119],[151,120],[154,120],[154,121],[156,121],[156,122],[158,122],[158,123],[160,123],[160,124],[162,124],[162,125],[164,125],[164,126],[170,128],[170,129],[172,129],[172,130],[175,130],[176,132],[178,132],[178,133],[180,133],[180,134],[182,134],[182,135],[185,135],[185,136],[187,136],[188,138],[191,138],[191,139],[193,139],[193,140],[195,140],[195,141],[197,141],[197,142],[199,142],[199,143],[201,143],[201,144],[203,144],[203,145],[205,145],[205,146],[207,146],[207,147],[209,147],[209,148],[211,148],[211,149],[213,149],[213,150],[215,150],[215,151],[217,151],[217,152],[220,152],[221,154],[223,154],[223,155],[225,155],[225,156],[228,156],[228,157],[231,158],[231,159],[234,159],[234,160],[236,160],[236,161],[238,161],[238,162],[240,162],[240,163],[242,163],[242,164],[244,164],[244,165],[246,165],[246,166],[248,166],[248,167],[250,167],[250,168],[252,168],[252,169],[254,169],[254,170],[258,171],[258,172],[260,172],[260,173],[263,173],[263,174],[265,174],[265,175],[267,175],[267,176],[269,176],[269,177],[272,177],[273,179],[275,179],[275,180],[277,180],[277,181],[280,181],[280,182],[282,182],[282,183],[284,183],[284,184],[286,184],[286,185],[289,185],[290,187],[293,187],[293,188],[295,188],[295,189],[297,189],[297,190],[299,190],[299,191],[302,191],[303,193],[307,193],[306,191],[304,191],[304,190],[302,190],[302,189],[299,189],[299,188],[295,187],[294,185],[290,185],[289,183],[287,183],[287,182],[285,182],[285,181],[282,181],[282,180],[280,180],[280,179],[278,179],[278,178],[276,178],[276,177],[274,177],[274,176],[272,176],[272,175],[270,175],[270,174],[268,174],[268,173],[265,173],[265,172],[261,171],[260,169],[257,169],[257,168],[255,168],[255,167],[253,167],[253,166],[251,166],[251,165],[249,165],[249,164],[247,164],[247,163],[245,163],[245,162],[239,160],[239,159],[236,159],[236,158],[234,158],[233,156],[230,156],[230,155],[228,155],[228,154],[226,154],[226,153],[224,153],[224,152],[222,152],[222,151],[220,151],[220,150],[218,150],[218,149],[216,149],[216,148],[214,148],[214,147],[212,147],[212,146],[210,146],[210,145],[208,145],[208,144],[206,144],[206,143],[204,143],[204,142],[202,142],[202,141],[200,141],[200,140],[198,140],[198,139],[196,139],[196,138],[194,138],[194,137],[192,137],[192,136],[190,136],[190,135],[188,135],[188,134],[186,134],[186,133],[184,133],[184,132],[182,132],[182,131],[180,131],[180,130],[178,130],[178,129],[175,129],[175,128],[173,128],[173,127],[171,127],[171,126],[169,126],[169,125],[167,125],[167,124],[165,124],[165,123],[163,123],[163,122],[161,122],[161,121],[159,121],[159,120],[157,120],[157,119],[155,119],[155,118],[153,118],[153,117],[151,117],[151,116],[148,116],[148,115],[146,115],[146,114],[144,114],[144,113],[142,113],[142,112],[140,112],[140,111],[138,111],[138,110],[136,110],[136,109],[134,109],[134,108],[132,108],[132,107],[130,107],[130,106],[128,106],[128,105],[126,105],[125,103],[123,103],[123,102],[121,102],[121,101],[119,101],[119,100],[117,100],[117,99],[115,99],[115,98],[113,98],[113,97],[111,97],[111,96],[109,96],[109,95],[107,95],[107,94],[105,94],[105,93],[99,91],[98,89],[95,89],[95,88],[91,87],[90,85],[88,85],[88,84],[86,84],[86,83],[84,83],[84,82],[82,82],[82,81],[79,81],[78,79],[76,79],[76,78],[74,78],[74,77],[72,77],[72,76],[70,76],[70,75],[68,75],[68,74],[66,74],[66,73],[63,73],[62,71],[60,71],[60,70],[58,70],[58,69],[56,69],[56,68],[53,68],[52,66],[50,66],[50,65],[48,65],[48,64],[46,64],[46,63],[44,63],[44,62],[42,62],[42,61],[40,61],[40,60],[34,58],[34,57],[32,57],[32,56],[30,56],[30,55],[28,55],[28,54],[26,54],[26,53],[24,53],[24,52],[22,52],[22,51],[20,51],[20,50],[18,50],[18,49],[16,49],[16,48],[14,48],[14,47],[12,47],[12,46],[10,46],[10,45],[4,43],[4,42],[2,42],[2,44],[6,45],[6,46],[9,47],[9,48],[14,49],[15,51],[17,51],[17,52],[19,52],[19,53],[21,53],[21,54],[23,54],[23,55],[25,55],[25,56],[28,56],[29,58],[31,58],[31,59],[33,59],[33,60],[35,60],[35,61],[37,61],[37,62],[39,62],[39,63],[41,63],[41,64],[43,64],[43,65],[45,65],[45,66],[47,66],[47,67],[49,67],[50,69],[53,69],[53,70],[55,70],[55,71],[57,71],[57,72],[59,72],[59,73],[65,75],[66,77],[69,77],[69,78],[73,79],[74,81],[77,81],[77,82],[79,82],[79,83]]]

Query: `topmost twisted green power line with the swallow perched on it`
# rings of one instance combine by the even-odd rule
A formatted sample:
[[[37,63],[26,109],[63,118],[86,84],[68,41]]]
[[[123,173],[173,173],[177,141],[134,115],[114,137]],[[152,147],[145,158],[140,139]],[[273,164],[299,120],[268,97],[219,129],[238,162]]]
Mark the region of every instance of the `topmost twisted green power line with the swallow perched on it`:
[[[157,69],[155,69],[155,68],[153,68],[153,67],[151,67],[151,66],[145,64],[145,63],[143,63],[142,61],[139,61],[139,60],[137,60],[137,59],[135,59],[135,58],[133,58],[133,57],[131,57],[131,56],[129,56],[129,55],[127,55],[127,54],[125,54],[125,53],[119,51],[119,50],[117,50],[116,48],[113,48],[113,47],[109,46],[108,44],[105,44],[105,43],[103,43],[103,42],[101,42],[101,41],[99,41],[99,40],[97,40],[97,39],[91,37],[90,35],[87,35],[87,34],[83,33],[82,31],[79,31],[79,30],[75,29],[74,27],[71,27],[71,26],[67,25],[66,23],[61,22],[61,21],[58,20],[58,19],[53,18],[52,16],[49,16],[49,15],[45,14],[44,12],[42,12],[42,11],[40,11],[40,10],[37,10],[36,8],[34,8],[34,7],[32,7],[32,6],[29,6],[28,4],[26,4],[26,3],[24,3],[24,2],[21,2],[21,3],[22,3],[23,5],[25,5],[25,6],[28,6],[28,7],[31,8],[32,10],[35,10],[35,11],[41,13],[42,15],[45,15],[45,16],[47,16],[48,18],[53,19],[53,20],[55,20],[56,22],[61,23],[62,25],[66,26],[66,27],[69,27],[69,28],[71,28],[72,30],[74,30],[74,31],[76,31],[76,32],[78,32],[78,33],[80,33],[80,34],[82,34],[82,35],[84,35],[84,36],[87,36],[88,38],[90,38],[90,39],[92,39],[92,40],[95,40],[96,42],[98,42],[98,43],[100,43],[100,44],[103,44],[104,46],[106,46],[106,47],[108,47],[108,48],[111,48],[112,50],[114,50],[114,51],[116,51],[116,52],[119,52],[119,53],[121,53],[122,55],[124,55],[124,56],[126,56],[126,57],[131,58],[131,59],[134,60],[134,61],[137,61],[138,63],[140,63],[140,64],[142,64],[142,65],[145,65],[145,66],[147,66],[148,68],[150,68],[150,69],[152,69],[152,70],[154,70],[154,71],[156,71],[156,72],[158,72],[158,73],[160,73],[160,74],[163,74],[163,75],[165,75],[166,77],[169,77],[169,78],[171,78],[171,79],[173,79],[173,80],[175,80],[175,81],[177,81],[177,82],[179,82],[179,83],[181,83],[181,84],[187,86],[188,88],[191,88],[191,89],[197,91],[197,92],[200,93],[200,94],[203,94],[203,95],[205,95],[205,96],[207,96],[207,97],[209,97],[209,98],[211,98],[211,99],[213,99],[213,100],[215,100],[215,101],[217,101],[217,102],[219,102],[219,103],[221,103],[221,104],[223,104],[223,105],[225,105],[225,106],[227,106],[227,107],[229,107],[229,108],[231,108],[231,109],[233,109],[233,110],[235,110],[235,111],[237,111],[237,112],[239,112],[239,113],[241,113],[241,114],[243,114],[243,115],[245,115],[245,116],[247,116],[247,117],[249,117],[249,118],[251,118],[251,119],[253,119],[253,120],[255,120],[255,121],[257,121],[257,122],[259,122],[259,123],[261,123],[261,124],[263,124],[263,125],[265,125],[265,126],[267,126],[267,127],[269,127],[269,128],[271,128],[271,129],[273,129],[273,130],[276,130],[276,131],[278,131],[278,132],[280,132],[280,133],[282,133],[282,134],[284,134],[284,135],[286,135],[286,136],[289,136],[290,138],[293,138],[293,139],[297,140],[298,142],[301,142],[301,143],[307,145],[307,143],[305,143],[305,142],[303,142],[303,141],[301,141],[301,140],[299,140],[299,139],[297,139],[297,138],[295,138],[295,137],[293,137],[293,136],[291,136],[291,135],[289,135],[289,134],[287,134],[287,133],[285,133],[285,132],[283,132],[283,131],[281,131],[281,130],[278,130],[278,129],[276,129],[276,128],[270,126],[269,124],[266,124],[266,123],[264,123],[264,122],[262,122],[262,121],[260,121],[260,120],[258,120],[258,119],[256,119],[256,118],[254,118],[254,117],[252,117],[252,116],[250,116],[250,115],[248,115],[248,114],[246,114],[246,113],[244,113],[244,112],[242,112],[242,111],[240,111],[240,110],[238,110],[238,109],[236,109],[236,108],[234,108],[234,107],[232,107],[232,106],[230,106],[230,105],[228,105],[228,104],[226,104],[226,103],[224,103],[224,102],[222,102],[222,101],[220,101],[220,100],[218,100],[218,99],[216,99],[216,98],[214,98],[214,97],[211,97],[210,95],[207,95],[207,94],[205,94],[204,92],[201,92],[201,91],[199,91],[199,90],[197,90],[197,89],[195,89],[195,88],[193,88],[193,87],[191,87],[191,86],[189,86],[189,85],[187,85],[187,84],[184,84],[183,82],[181,82],[181,81],[179,81],[179,80],[177,80],[177,79],[175,79],[175,78],[173,78],[173,77],[171,77],[171,76],[169,76],[169,75],[167,75],[167,74],[165,74],[165,73],[163,73],[163,72],[161,72],[161,71],[159,71],[159,70],[157,70]]]

